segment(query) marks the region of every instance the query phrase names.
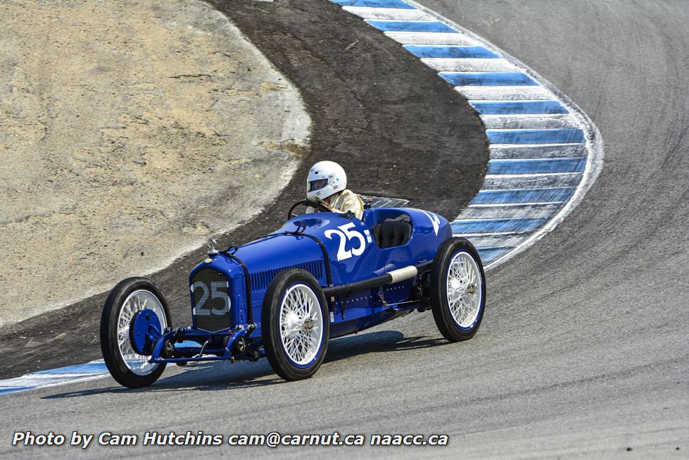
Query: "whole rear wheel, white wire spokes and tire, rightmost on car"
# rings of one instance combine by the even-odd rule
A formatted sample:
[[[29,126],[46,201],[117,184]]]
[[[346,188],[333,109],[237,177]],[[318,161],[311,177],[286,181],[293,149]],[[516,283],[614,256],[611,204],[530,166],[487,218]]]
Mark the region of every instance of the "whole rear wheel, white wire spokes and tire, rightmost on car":
[[[459,342],[474,337],[486,306],[481,258],[464,238],[445,240],[431,267],[431,309],[443,337]]]

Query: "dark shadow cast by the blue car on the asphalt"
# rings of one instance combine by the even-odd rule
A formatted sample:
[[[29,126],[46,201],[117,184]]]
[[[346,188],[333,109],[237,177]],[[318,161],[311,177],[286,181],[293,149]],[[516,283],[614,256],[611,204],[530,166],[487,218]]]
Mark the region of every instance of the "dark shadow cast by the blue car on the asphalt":
[[[407,337],[396,330],[369,332],[361,335],[351,335],[332,340],[328,344],[328,352],[324,363],[334,363],[348,358],[369,353],[403,352],[412,349],[436,347],[448,342],[442,337]],[[168,369],[175,366],[168,366]],[[163,373],[165,375],[165,373]],[[240,388],[265,387],[285,383],[285,380],[275,375],[267,359],[251,363],[243,361],[231,365],[229,363],[200,363],[170,377],[163,377],[151,387],[129,389],[120,386],[96,388],[51,394],[42,399],[61,399],[72,397],[93,396],[96,394],[132,394],[139,392],[180,392],[180,391],[220,391],[236,390]]]

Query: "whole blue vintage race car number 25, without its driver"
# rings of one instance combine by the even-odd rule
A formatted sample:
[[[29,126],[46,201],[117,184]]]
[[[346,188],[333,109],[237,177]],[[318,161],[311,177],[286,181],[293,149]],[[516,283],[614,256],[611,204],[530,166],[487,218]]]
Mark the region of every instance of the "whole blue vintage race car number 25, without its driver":
[[[155,382],[167,363],[266,356],[286,380],[313,375],[328,340],[431,310],[442,335],[467,340],[486,304],[474,246],[445,218],[418,209],[295,216],[241,247],[217,251],[189,273],[191,326],[172,328],[163,293],[147,278],[110,292],[101,349],[125,387]]]

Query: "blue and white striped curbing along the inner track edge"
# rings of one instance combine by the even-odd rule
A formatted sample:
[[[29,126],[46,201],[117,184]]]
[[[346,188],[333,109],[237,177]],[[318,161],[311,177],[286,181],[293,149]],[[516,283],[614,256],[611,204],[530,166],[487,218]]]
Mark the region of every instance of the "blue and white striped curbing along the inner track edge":
[[[540,240],[579,204],[602,168],[598,128],[537,73],[407,0],[330,0],[400,43],[469,100],[490,143],[483,185],[453,221],[486,270]],[[103,360],[0,381],[0,394],[95,380]]]

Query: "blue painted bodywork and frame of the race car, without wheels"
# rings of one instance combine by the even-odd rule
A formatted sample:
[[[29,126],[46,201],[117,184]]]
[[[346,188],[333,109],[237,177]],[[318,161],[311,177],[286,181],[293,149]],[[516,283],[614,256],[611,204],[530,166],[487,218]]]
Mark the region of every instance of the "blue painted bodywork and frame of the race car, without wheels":
[[[370,232],[377,223],[389,220],[410,222],[412,234],[402,246],[381,249],[372,240]],[[361,235],[365,242],[356,234]],[[234,306],[231,327],[217,332],[197,328],[193,295],[191,328],[168,328],[161,334],[153,325],[146,326],[145,322],[143,325],[137,322],[137,327],[146,329],[146,340],[153,347],[150,359],[153,363],[255,361],[265,356],[260,321],[254,321],[254,318],[261,317],[267,282],[256,288],[255,282],[252,286],[252,280],[261,277],[265,280],[265,273],[277,274],[285,268],[316,261],[322,264],[323,269],[312,274],[321,287],[346,285],[405,266],[428,266],[436,249],[449,237],[452,237],[452,231],[445,218],[418,209],[367,209],[362,220],[346,218],[338,213],[297,216],[270,235],[209,256],[189,273],[190,286],[194,275],[203,268],[212,268],[227,276],[229,299]],[[422,276],[419,273],[413,279],[353,292],[351,296],[329,297],[329,338],[371,328],[414,309],[425,308],[424,299],[415,292]],[[169,344],[172,344],[176,357],[163,356],[164,348],[170,347]],[[210,348],[208,344],[211,344]],[[242,347],[238,348],[237,344]]]

